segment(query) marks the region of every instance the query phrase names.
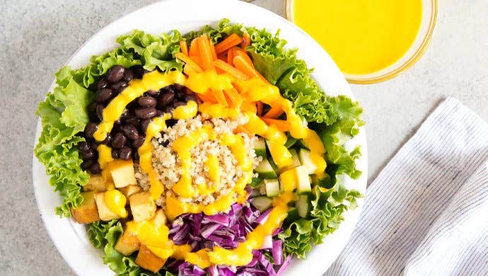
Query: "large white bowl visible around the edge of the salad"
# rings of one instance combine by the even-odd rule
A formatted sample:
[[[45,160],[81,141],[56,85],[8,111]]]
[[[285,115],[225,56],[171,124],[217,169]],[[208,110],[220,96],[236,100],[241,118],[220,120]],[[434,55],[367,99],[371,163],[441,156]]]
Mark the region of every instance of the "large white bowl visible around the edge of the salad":
[[[215,24],[221,18],[230,18],[233,22],[256,26],[257,28],[267,28],[272,32],[280,29],[281,38],[289,41],[289,47],[297,47],[299,49],[298,56],[305,59],[308,67],[315,68],[313,78],[318,81],[326,93],[353,97],[344,76],[315,40],[277,14],[243,1],[169,0],[151,4],[110,23],[100,30],[85,42],[66,64],[74,68],[85,66],[93,54],[103,54],[112,50],[116,47],[115,38],[134,28],[154,34],[172,29],[186,33],[190,30],[202,28],[205,24]],[[57,68],[52,70],[54,72]],[[54,81],[50,91],[52,88],[54,88]],[[38,122],[35,135],[36,143],[40,131],[41,124]],[[348,188],[356,188],[364,193],[366,192],[367,175],[364,128],[361,128],[360,134],[349,142],[349,146],[357,144],[361,145],[363,152],[363,157],[358,160],[358,167],[363,171],[363,174],[358,180],[347,178],[345,183]],[[103,264],[101,259],[103,251],[94,248],[88,241],[86,227],[76,224],[73,219],[60,218],[54,214],[54,207],[58,206],[62,199],[52,191],[48,180],[44,166],[34,158],[33,184],[37,205],[47,231],[66,263],[78,275],[113,275],[114,273]],[[293,260],[286,271],[286,275],[321,275],[325,272],[349,240],[359,218],[361,205],[362,201],[360,200],[359,208],[347,212],[339,229],[334,234],[327,236],[324,243],[315,246],[306,260]]]

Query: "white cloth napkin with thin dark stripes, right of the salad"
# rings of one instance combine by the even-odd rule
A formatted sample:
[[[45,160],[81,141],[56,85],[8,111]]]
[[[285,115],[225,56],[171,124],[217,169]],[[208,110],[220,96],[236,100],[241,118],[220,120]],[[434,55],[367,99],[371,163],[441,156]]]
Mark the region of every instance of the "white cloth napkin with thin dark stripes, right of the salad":
[[[448,98],[371,184],[325,275],[488,275],[488,125]]]

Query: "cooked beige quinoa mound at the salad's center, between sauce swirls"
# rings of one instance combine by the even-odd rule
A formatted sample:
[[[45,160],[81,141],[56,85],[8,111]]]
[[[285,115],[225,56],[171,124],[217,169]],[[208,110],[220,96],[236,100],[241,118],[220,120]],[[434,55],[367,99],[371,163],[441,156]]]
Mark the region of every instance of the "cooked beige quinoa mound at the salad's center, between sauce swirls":
[[[165,195],[174,195],[173,185],[180,180],[182,173],[181,161],[178,159],[178,154],[172,149],[173,142],[179,137],[183,137],[190,132],[194,132],[202,128],[204,125],[210,125],[213,127],[216,136],[219,137],[222,134],[231,134],[233,130],[239,125],[244,125],[246,119],[243,116],[239,116],[234,120],[231,119],[218,119],[203,117],[197,115],[190,120],[178,120],[173,127],[168,127],[165,132],[158,134],[152,139],[153,144],[153,168],[156,172],[158,179],[165,185],[166,194],[163,194],[161,198],[156,200],[156,204],[164,207]],[[243,137],[245,148],[248,151],[248,156],[252,160],[252,167],[255,168],[260,162],[260,157],[257,157],[253,149],[253,142],[256,137],[249,137],[247,134],[240,134]],[[190,203],[202,203],[208,205],[215,200],[218,200],[223,195],[228,195],[233,189],[236,182],[243,176],[243,171],[238,166],[238,161],[231,153],[231,149],[228,146],[223,146],[218,140],[206,140],[199,143],[197,146],[190,150],[192,156],[191,176],[192,185],[199,185],[199,183],[208,183],[211,187],[215,187],[216,192],[192,197],[178,197],[181,202]],[[209,179],[209,169],[204,166],[209,155],[217,156],[219,159],[219,178],[220,181],[213,183]],[[141,170],[139,164],[134,164],[136,169],[136,179],[139,185],[144,190],[149,190],[150,183],[149,178]]]

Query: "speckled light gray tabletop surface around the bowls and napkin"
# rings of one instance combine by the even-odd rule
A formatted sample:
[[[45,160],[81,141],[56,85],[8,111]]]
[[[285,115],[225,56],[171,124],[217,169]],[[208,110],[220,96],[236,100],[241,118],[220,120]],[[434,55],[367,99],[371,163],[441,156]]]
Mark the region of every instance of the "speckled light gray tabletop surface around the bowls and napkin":
[[[153,1],[0,0],[0,275],[73,275],[37,212],[31,158],[52,74],[98,29]],[[441,1],[426,55],[402,76],[353,86],[368,123],[369,180],[446,96],[488,120],[488,4]],[[258,0],[282,14],[283,1]]]

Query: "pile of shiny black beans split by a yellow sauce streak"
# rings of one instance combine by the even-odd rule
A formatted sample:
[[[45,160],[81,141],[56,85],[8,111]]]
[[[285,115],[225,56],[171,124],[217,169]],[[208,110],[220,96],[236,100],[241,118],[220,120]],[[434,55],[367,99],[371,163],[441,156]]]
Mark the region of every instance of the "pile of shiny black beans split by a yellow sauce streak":
[[[98,129],[98,123],[103,119],[103,109],[110,100],[117,96],[128,86],[134,78],[141,79],[148,71],[142,67],[124,68],[119,65],[112,67],[105,77],[98,81],[95,100],[88,106],[88,115],[91,122],[85,127],[83,136],[86,142],[80,142],[80,151],[83,163],[81,168],[91,173],[100,173],[98,163],[98,144],[105,144],[112,148],[114,159],[139,159],[137,149],[144,144],[146,129],[153,117],[162,116],[163,113],[172,113],[174,108],[186,105],[187,101],[197,98],[192,91],[180,84],[173,84],[161,88],[159,91],[146,91],[141,97],[127,105],[119,120],[115,121],[112,131],[107,134],[103,142],[95,142],[93,134]],[[175,122],[168,120],[167,124]]]

